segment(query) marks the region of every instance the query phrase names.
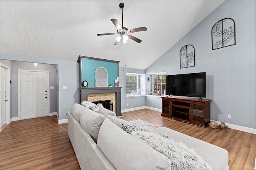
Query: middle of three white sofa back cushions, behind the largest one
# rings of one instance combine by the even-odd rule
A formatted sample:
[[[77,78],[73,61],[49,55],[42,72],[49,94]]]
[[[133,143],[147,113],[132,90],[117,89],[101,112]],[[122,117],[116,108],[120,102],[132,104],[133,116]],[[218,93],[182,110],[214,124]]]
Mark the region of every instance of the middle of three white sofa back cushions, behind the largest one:
[[[100,113],[84,108],[80,115],[80,123],[84,130],[89,133],[97,143],[100,126],[106,117]]]

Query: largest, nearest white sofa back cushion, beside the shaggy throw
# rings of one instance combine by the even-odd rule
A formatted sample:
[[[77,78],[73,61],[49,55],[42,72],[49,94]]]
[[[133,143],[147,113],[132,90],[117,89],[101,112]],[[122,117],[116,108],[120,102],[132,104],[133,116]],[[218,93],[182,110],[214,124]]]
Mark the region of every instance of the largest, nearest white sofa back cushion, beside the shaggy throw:
[[[116,169],[171,170],[171,161],[109,119],[100,127],[98,146]]]

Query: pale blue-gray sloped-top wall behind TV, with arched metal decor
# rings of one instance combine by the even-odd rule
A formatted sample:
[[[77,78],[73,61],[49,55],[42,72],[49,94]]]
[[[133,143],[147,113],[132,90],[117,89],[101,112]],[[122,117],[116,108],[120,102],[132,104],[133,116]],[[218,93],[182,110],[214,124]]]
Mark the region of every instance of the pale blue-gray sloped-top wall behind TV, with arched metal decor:
[[[212,26],[232,18],[236,45],[212,50]],[[256,128],[256,1],[225,1],[192,31],[146,69],[146,74],[206,72],[206,98],[212,99],[211,119]],[[180,49],[195,48],[195,67],[180,69]],[[163,70],[164,69],[164,70]],[[151,103],[146,101],[146,106]],[[228,114],[232,119],[228,119]]]

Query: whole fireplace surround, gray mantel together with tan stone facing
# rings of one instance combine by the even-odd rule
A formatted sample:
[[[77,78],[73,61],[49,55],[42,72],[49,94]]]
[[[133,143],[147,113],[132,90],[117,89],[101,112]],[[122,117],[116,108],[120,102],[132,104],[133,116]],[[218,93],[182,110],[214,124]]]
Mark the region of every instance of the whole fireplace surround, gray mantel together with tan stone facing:
[[[106,98],[106,94],[114,93],[115,101]],[[92,95],[95,94],[95,95]],[[99,95],[98,95],[99,94]],[[96,99],[91,96],[96,96]],[[111,95],[110,95],[111,96]],[[90,101],[90,100],[111,100],[113,102],[113,110],[117,116],[122,116],[121,113],[121,87],[88,87],[88,88],[80,88],[80,102],[82,101]],[[94,101],[90,101],[94,102]]]

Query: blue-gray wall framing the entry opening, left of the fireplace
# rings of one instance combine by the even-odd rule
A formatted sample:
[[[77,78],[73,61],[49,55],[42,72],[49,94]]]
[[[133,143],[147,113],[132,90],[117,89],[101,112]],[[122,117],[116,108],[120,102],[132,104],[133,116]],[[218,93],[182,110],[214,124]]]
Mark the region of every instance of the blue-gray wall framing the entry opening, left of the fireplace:
[[[4,60],[26,61],[26,62],[32,62],[32,63],[58,65],[59,91],[56,92],[56,95],[57,95],[56,100],[57,100],[57,112],[60,120],[67,119],[66,112],[72,109],[74,103],[80,103],[79,72],[78,72],[79,65],[77,62],[40,58],[40,57],[31,57],[31,56],[25,56],[25,55],[15,55],[15,54],[8,54],[8,53],[0,53],[0,56],[1,56],[1,59],[4,59]],[[12,72],[12,75],[16,76],[14,74],[18,74],[18,72],[17,73]],[[64,90],[63,86],[67,86],[67,89]],[[16,92],[12,91],[12,101],[17,100],[15,93]],[[14,110],[12,112],[14,112]],[[16,117],[16,116],[12,115],[12,117]]]

